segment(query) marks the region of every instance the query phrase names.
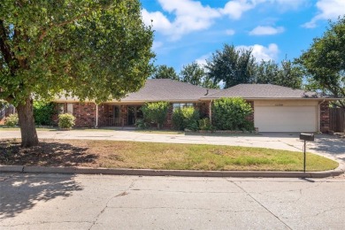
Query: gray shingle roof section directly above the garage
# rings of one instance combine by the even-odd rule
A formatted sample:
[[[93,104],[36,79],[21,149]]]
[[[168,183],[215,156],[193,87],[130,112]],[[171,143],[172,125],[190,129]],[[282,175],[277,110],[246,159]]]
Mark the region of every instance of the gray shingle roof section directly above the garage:
[[[212,99],[220,97],[243,98],[308,98],[317,97],[315,93],[306,92],[302,89],[293,89],[272,84],[240,84],[231,88],[226,88],[218,93],[203,96],[202,99]]]

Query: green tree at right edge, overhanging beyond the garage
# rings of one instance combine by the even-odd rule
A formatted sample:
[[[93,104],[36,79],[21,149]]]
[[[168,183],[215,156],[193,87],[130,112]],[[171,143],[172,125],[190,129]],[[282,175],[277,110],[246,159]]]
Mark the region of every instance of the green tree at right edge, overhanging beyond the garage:
[[[330,22],[322,37],[297,60],[311,76],[310,87],[332,96],[345,97],[345,16]],[[340,101],[345,108],[345,102]]]

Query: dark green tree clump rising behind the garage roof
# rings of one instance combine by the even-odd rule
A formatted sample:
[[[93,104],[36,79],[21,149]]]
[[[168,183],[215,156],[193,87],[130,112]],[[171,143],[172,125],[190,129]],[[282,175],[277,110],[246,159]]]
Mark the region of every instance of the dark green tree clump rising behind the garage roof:
[[[238,84],[274,84],[301,88],[303,71],[299,65],[284,59],[280,64],[273,60],[257,62],[252,50],[224,45],[207,60],[206,71],[214,83],[224,82],[224,88]]]

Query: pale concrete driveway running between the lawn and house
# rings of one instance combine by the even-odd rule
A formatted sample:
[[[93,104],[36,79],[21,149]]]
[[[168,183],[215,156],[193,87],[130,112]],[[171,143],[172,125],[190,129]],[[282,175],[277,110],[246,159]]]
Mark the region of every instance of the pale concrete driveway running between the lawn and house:
[[[214,134],[151,134],[122,130],[71,130],[71,131],[38,131],[39,138],[45,139],[81,139],[112,140],[133,142],[169,142],[217,144],[229,146],[261,147],[269,149],[287,149],[301,151],[303,142],[299,133],[262,133],[219,135]],[[20,138],[18,130],[0,131],[0,139]],[[345,139],[334,135],[316,134],[315,142],[307,143],[307,150],[325,157],[336,158],[345,163]]]

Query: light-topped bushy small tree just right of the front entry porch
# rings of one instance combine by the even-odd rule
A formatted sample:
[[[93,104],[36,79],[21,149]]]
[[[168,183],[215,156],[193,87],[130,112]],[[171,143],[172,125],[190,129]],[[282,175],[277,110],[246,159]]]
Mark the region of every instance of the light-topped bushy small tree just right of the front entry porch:
[[[168,115],[169,103],[145,103],[142,105],[143,119],[149,123],[157,124],[157,128],[161,128]]]

